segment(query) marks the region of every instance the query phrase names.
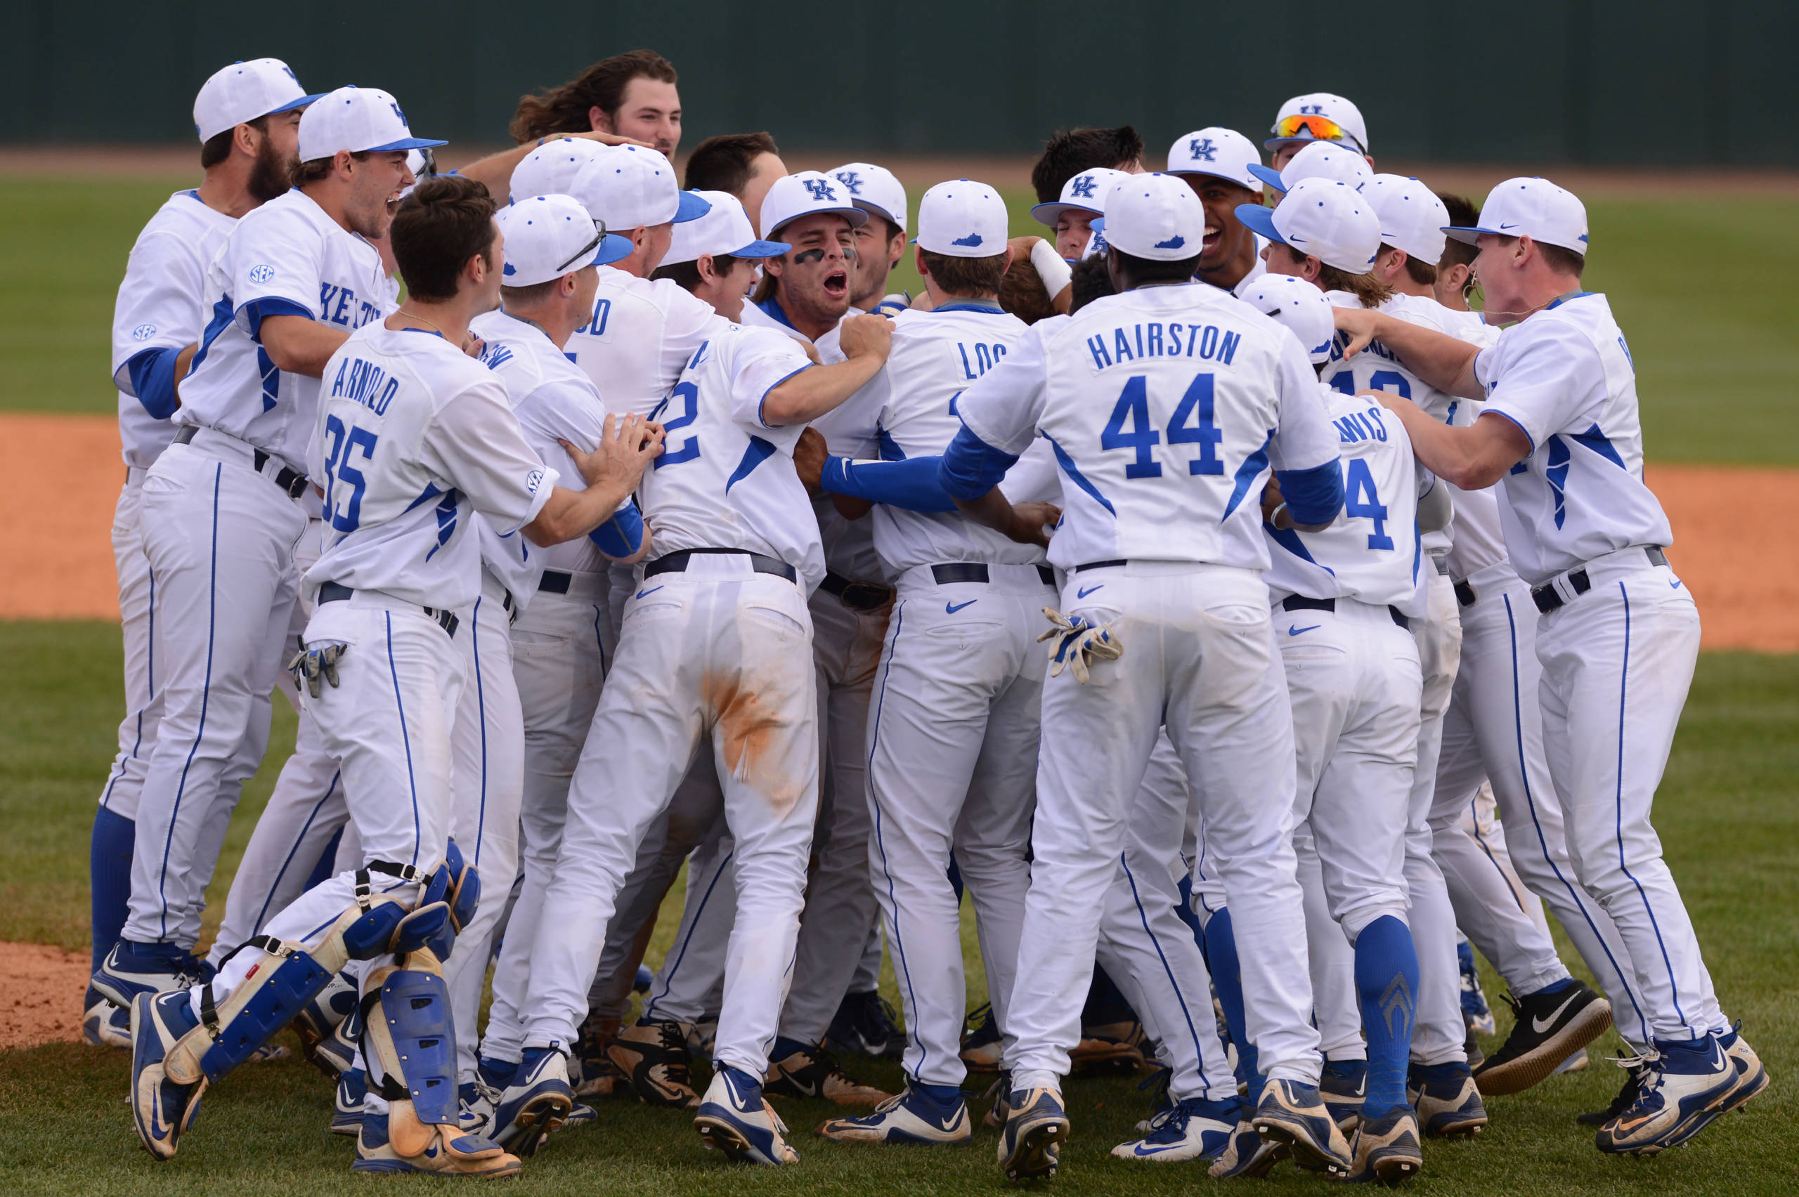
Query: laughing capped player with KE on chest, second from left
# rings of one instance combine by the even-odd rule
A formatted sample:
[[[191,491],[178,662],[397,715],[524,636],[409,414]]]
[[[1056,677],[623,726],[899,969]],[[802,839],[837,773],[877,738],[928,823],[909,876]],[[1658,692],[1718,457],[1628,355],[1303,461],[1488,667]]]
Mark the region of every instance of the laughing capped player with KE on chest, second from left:
[[[318,101],[324,102],[324,101]],[[162,624],[162,726],[139,798],[131,915],[94,974],[115,1001],[175,976],[218,843],[203,829],[232,760],[261,757],[293,609],[293,548],[315,501],[306,439],[318,370],[387,311],[363,237],[412,182],[398,102],[340,88],[300,117],[297,187],[239,221],[207,277],[210,322],[182,383],[180,431],[144,480],[144,548]],[[158,981],[160,978],[160,981]]]

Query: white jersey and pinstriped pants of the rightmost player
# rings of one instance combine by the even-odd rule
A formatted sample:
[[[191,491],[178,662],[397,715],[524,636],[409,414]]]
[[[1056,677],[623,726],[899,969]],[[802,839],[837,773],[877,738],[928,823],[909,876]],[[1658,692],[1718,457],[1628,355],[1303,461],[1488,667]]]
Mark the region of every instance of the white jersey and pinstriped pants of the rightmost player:
[[[1574,868],[1630,949],[1653,1039],[1723,1030],[1650,827],[1700,629],[1693,595],[1659,563],[1673,532],[1642,482],[1624,334],[1603,295],[1576,293],[1500,332],[1475,377],[1484,415],[1531,440],[1499,512],[1511,564],[1551,607],[1536,625],[1544,755]]]

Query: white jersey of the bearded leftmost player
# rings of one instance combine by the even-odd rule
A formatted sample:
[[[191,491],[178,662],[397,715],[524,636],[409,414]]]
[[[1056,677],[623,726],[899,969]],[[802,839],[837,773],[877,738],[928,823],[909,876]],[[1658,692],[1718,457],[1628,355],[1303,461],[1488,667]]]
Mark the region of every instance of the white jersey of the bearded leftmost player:
[[[237,217],[214,212],[198,191],[178,191],[144,225],[113,304],[113,385],[124,464],[149,467],[175,440],[173,406],[151,415],[131,379],[133,361],[182,350],[207,331],[207,266]],[[173,395],[164,401],[173,404]],[[149,395],[144,401],[157,403]]]

